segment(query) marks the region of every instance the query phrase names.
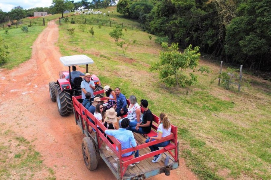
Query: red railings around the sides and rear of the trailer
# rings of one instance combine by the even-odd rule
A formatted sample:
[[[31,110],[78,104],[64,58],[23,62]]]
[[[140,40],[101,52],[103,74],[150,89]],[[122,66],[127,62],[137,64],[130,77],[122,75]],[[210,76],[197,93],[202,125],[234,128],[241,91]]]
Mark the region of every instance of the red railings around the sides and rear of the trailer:
[[[104,93],[104,90],[100,90],[100,91],[96,91],[94,92],[94,94],[99,94],[99,93]],[[105,131],[106,128],[103,126],[103,124],[100,122],[100,121],[97,121],[97,119],[82,105],[79,103],[79,101],[77,101],[77,99],[81,99],[82,96],[73,96],[72,99],[73,99],[73,107],[74,107],[74,110],[76,112],[76,118],[79,117],[79,115],[81,115],[82,117],[82,124],[83,124],[83,129],[86,129],[85,126],[87,124],[87,126],[90,126],[92,128],[94,128],[96,130],[96,136],[97,136],[97,141],[98,141],[98,148],[101,148],[101,145],[103,142],[106,143],[106,145],[111,148],[111,150],[116,154],[116,156],[119,158],[119,161],[121,162],[120,163],[120,178],[123,178],[123,175],[128,167],[129,164],[132,164],[132,163],[135,163],[137,161],[142,161],[142,160],[145,160],[149,157],[153,157],[154,155],[157,155],[157,154],[161,154],[161,153],[164,153],[164,152],[169,152],[169,154],[174,158],[174,161],[175,162],[178,162],[179,161],[179,158],[178,158],[178,142],[177,142],[177,127],[174,126],[174,125],[171,125],[171,133],[169,136],[167,137],[164,137],[160,140],[154,140],[154,141],[151,141],[151,142],[148,142],[148,143],[145,143],[145,144],[142,144],[142,145],[138,145],[136,148],[129,148],[129,149],[124,149],[124,150],[121,150],[121,143],[115,139],[113,136],[109,136],[109,138],[112,140],[112,142],[114,142],[114,144],[116,145],[116,147],[118,147],[119,151],[116,150],[116,148],[114,147],[114,145],[112,145],[108,139],[104,136],[103,133],[101,133],[101,131],[97,128],[97,125],[99,125],[99,127],[101,128],[101,130]],[[101,98],[102,100],[105,100],[105,98]],[[129,100],[127,99],[127,104],[129,105]],[[84,113],[83,113],[84,112]],[[92,124],[88,117],[90,117],[94,122],[95,124]],[[153,122],[157,123],[158,124],[158,120],[159,118],[153,114]],[[86,124],[84,124],[83,122],[86,122]],[[154,125],[154,123],[152,124],[152,128],[154,130],[157,130],[157,126]],[[122,154],[125,154],[127,152],[131,152],[131,151],[136,151],[136,150],[139,150],[139,149],[142,149],[142,148],[148,148],[149,146],[151,145],[154,145],[154,144],[157,144],[157,143],[160,143],[160,142],[165,142],[165,141],[168,141],[170,140],[172,143],[170,143],[170,145],[162,148],[162,149],[159,149],[157,151],[153,151],[153,152],[150,152],[150,153],[147,153],[147,154],[144,154],[144,155],[141,155],[139,157],[136,157],[136,158],[133,158],[133,159],[130,159],[130,160],[126,160],[126,161],[122,161],[122,158],[121,155]],[[171,152],[171,150],[174,150],[174,154]]]

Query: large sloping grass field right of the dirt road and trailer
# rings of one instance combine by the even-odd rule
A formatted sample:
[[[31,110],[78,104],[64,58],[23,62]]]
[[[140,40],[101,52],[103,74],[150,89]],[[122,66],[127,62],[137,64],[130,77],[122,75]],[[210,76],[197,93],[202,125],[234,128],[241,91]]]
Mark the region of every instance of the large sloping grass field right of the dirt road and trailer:
[[[75,28],[69,36],[67,29]],[[158,61],[160,45],[148,34],[123,30],[130,45],[125,57],[109,36],[113,28],[94,27],[94,37],[79,29],[79,24],[60,26],[58,46],[63,56],[86,54],[94,60],[90,72],[103,85],[120,87],[129,98],[147,99],[153,113],[165,112],[178,126],[180,156],[201,179],[270,179],[271,84],[251,78],[251,86],[241,93],[210,84],[219,65],[200,61],[212,73],[199,76],[199,83],[188,88],[167,88],[156,72],[149,72]],[[87,25],[87,29],[90,26]],[[186,72],[186,73],[189,73]],[[200,75],[200,73],[197,73]]]

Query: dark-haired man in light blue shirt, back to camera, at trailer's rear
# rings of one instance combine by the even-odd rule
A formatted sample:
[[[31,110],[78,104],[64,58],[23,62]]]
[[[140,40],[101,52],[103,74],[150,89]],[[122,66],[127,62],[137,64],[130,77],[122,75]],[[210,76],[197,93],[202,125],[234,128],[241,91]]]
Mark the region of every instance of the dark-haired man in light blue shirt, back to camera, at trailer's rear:
[[[121,143],[121,149],[128,149],[128,148],[132,148],[132,147],[136,147],[137,146],[137,141],[134,138],[134,134],[132,133],[132,131],[126,130],[125,128],[127,128],[129,126],[129,119],[128,118],[124,118],[121,121],[121,127],[118,130],[105,130],[104,133],[109,135],[109,136],[114,136],[120,143]],[[118,148],[116,147],[117,151]],[[132,152],[128,152],[125,154],[122,154],[122,157],[126,157],[126,156],[130,156],[132,154],[135,153],[135,157],[139,157],[139,151],[132,151]],[[136,162],[135,164],[138,164],[138,162]],[[130,164],[129,166],[135,166],[135,164]]]

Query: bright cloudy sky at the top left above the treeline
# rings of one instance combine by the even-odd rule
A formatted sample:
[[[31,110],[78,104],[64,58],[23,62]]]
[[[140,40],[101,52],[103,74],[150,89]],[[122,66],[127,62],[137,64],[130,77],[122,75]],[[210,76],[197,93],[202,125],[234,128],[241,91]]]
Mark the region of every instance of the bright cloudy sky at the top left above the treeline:
[[[0,0],[0,9],[9,12],[12,8],[21,6],[23,9],[50,7],[53,0]],[[77,1],[74,1],[77,2]]]

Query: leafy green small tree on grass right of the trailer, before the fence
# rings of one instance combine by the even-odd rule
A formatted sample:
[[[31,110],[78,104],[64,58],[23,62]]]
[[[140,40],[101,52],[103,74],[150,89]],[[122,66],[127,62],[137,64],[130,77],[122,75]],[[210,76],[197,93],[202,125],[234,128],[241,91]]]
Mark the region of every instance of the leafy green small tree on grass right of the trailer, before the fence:
[[[160,62],[152,65],[150,68],[151,71],[159,71],[159,78],[168,87],[191,86],[198,81],[197,76],[192,72],[189,73],[189,78],[183,74],[183,71],[186,69],[195,71],[201,55],[198,53],[199,47],[192,49],[192,45],[190,44],[183,53],[180,53],[178,46],[178,43],[172,43],[170,47],[168,47],[167,43],[162,43],[162,47],[167,48],[167,50],[160,52]]]

